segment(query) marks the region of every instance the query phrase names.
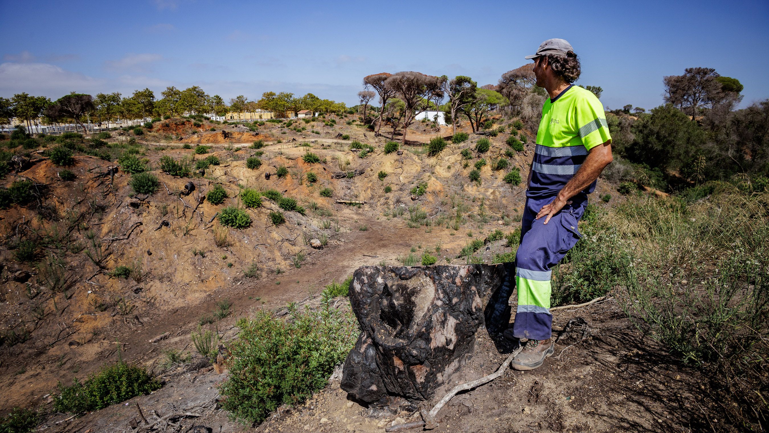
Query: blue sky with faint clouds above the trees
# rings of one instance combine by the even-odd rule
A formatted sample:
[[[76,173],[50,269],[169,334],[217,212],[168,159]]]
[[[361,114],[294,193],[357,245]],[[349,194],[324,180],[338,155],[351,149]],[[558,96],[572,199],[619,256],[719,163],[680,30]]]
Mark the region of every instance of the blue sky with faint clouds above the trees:
[[[225,100],[314,93],[355,105],[377,72],[469,75],[529,62],[547,38],[580,55],[601,102],[653,108],[662,77],[715,68],[769,98],[769,2],[0,1],[0,96],[199,85]]]

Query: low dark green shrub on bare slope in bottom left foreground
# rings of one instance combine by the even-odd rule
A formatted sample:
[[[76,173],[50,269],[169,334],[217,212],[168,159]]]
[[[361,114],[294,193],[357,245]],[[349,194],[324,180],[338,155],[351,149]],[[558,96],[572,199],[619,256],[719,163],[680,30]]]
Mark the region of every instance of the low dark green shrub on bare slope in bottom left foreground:
[[[144,368],[128,365],[122,360],[102,367],[82,383],[77,378],[73,382],[70,386],[58,383],[59,394],[53,400],[55,411],[79,415],[137,395],[147,395],[161,386]]]

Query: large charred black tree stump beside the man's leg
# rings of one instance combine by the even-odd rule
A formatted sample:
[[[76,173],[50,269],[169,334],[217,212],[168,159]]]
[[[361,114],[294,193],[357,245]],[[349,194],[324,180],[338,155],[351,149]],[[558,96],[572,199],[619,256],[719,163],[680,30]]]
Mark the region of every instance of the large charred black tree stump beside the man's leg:
[[[479,328],[507,327],[511,266],[358,268],[350,301],[361,335],[345,360],[341,388],[365,402],[431,398],[464,365]]]

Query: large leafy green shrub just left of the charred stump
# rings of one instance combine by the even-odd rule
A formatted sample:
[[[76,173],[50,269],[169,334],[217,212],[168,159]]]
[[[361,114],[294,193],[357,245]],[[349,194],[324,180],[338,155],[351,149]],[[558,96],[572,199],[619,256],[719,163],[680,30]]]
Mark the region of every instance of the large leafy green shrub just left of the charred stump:
[[[358,338],[355,317],[328,303],[317,312],[294,311],[286,321],[258,311],[238,328],[230,375],[219,392],[221,407],[249,423],[324,388]]]

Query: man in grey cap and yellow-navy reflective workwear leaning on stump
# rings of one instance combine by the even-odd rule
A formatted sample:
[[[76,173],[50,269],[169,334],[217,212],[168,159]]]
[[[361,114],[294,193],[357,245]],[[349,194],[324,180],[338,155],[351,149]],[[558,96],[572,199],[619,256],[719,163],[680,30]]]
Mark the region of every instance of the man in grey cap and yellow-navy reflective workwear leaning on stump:
[[[537,368],[553,354],[551,267],[581,237],[577,223],[588,194],[611,162],[603,105],[591,92],[571,84],[581,72],[571,45],[564,39],[548,39],[537,54],[526,58],[534,59],[537,85],[550,98],[542,107],[515,258],[518,310],[512,334],[528,338],[512,361],[516,370]]]

